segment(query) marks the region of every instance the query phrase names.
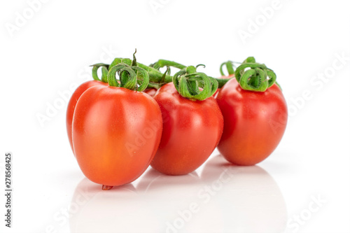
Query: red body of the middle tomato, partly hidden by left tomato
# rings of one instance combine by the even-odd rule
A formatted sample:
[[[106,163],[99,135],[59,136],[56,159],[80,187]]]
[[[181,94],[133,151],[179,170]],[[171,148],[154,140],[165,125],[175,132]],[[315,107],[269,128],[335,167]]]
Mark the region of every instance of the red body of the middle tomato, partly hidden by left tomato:
[[[162,111],[163,132],[151,167],[168,175],[195,171],[211,155],[223,132],[223,115],[216,100],[186,99],[173,83],[160,87],[154,99]]]

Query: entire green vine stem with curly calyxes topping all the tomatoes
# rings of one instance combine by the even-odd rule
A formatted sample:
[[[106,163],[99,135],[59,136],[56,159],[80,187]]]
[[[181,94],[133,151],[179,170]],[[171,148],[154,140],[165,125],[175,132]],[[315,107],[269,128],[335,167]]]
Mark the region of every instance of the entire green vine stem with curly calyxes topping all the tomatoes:
[[[146,66],[137,62],[135,53],[136,50],[133,59],[116,58],[110,65],[103,63],[92,65],[92,77],[94,80],[109,83],[111,86],[138,91],[142,91],[146,87],[159,89],[162,85],[173,82],[182,97],[192,100],[204,100],[211,97],[218,87],[223,87],[230,80],[227,77],[211,78],[205,73],[197,72],[198,66],[204,66],[202,64],[184,66],[177,62],[159,59],[150,66]],[[236,69],[237,64],[240,65]],[[162,67],[167,67],[164,73],[160,71]],[[170,67],[180,69],[180,71],[171,76]],[[235,75],[239,85],[244,90],[265,92],[267,88],[276,83],[276,73],[267,68],[265,64],[255,62],[254,57],[248,57],[242,63],[223,62],[220,66],[220,73],[222,76],[226,76],[223,67],[226,67],[228,76]],[[102,69],[101,78],[97,75],[99,68]],[[116,78],[117,73],[119,81]]]

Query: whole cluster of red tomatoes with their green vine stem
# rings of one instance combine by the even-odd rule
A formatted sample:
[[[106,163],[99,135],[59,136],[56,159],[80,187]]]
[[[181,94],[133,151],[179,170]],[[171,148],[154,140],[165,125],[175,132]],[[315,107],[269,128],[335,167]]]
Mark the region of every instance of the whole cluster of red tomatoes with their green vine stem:
[[[109,190],[136,180],[150,164],[163,174],[188,174],[216,147],[233,164],[265,160],[286,129],[281,88],[274,72],[253,57],[235,71],[232,62],[225,64],[229,74],[221,69],[218,79],[166,60],[95,64],[94,80],[76,89],[66,112],[83,174]],[[171,76],[170,66],[180,71]]]

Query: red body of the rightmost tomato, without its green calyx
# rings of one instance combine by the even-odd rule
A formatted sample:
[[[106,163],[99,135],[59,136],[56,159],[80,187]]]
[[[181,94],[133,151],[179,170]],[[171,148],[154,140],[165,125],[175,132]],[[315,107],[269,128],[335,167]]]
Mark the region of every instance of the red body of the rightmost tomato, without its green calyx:
[[[254,165],[278,146],[287,124],[287,104],[281,89],[265,92],[241,89],[235,78],[216,97],[224,118],[219,152],[233,164]]]

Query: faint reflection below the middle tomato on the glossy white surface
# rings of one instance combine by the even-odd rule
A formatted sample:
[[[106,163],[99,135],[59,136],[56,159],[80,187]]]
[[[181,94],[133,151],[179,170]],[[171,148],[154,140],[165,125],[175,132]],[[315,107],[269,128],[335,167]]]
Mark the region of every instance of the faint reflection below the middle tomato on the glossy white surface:
[[[207,225],[203,223],[203,218],[198,218],[202,213],[202,200],[198,199],[197,193],[203,186],[196,171],[183,176],[167,176],[155,169],[146,171],[136,188],[142,199],[156,200],[148,201],[147,206],[144,206],[148,211],[146,216],[154,216],[155,219],[151,227],[141,232],[206,232],[204,227]],[[193,206],[195,212],[192,212]],[[183,218],[186,223],[181,225]],[[132,219],[134,225],[139,224],[139,218]],[[178,226],[181,226],[181,229]]]

